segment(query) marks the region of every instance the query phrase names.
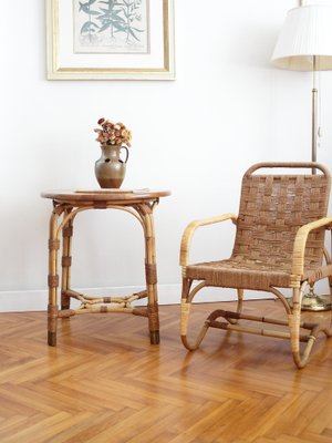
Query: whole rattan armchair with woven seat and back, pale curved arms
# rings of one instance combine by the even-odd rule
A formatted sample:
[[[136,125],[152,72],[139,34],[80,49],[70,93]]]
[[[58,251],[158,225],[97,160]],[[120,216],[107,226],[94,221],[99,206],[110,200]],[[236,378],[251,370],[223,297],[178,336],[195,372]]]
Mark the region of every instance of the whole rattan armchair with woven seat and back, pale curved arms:
[[[261,168],[282,168],[282,172],[278,175],[256,173]],[[290,173],[293,168],[309,168],[318,174],[310,171],[293,175],[293,171]],[[324,248],[325,230],[331,233],[332,227],[332,217],[326,216],[330,182],[329,171],[318,163],[256,164],[243,175],[238,216],[226,214],[187,226],[180,246],[181,340],[187,349],[197,349],[209,328],[249,332],[289,339],[294,363],[303,368],[318,334],[322,331],[328,337],[332,336],[331,324],[321,327],[319,323],[301,321],[301,301],[308,285],[328,278],[332,293],[331,259]],[[195,230],[224,220],[231,220],[236,225],[230,258],[189,264]],[[196,286],[193,288],[194,281]],[[211,312],[196,340],[190,342],[187,332],[191,302],[205,287],[237,289],[237,310],[218,309]],[[291,303],[280,288],[291,289]],[[287,320],[242,313],[245,289],[272,292],[281,300]],[[241,319],[276,327],[274,330],[271,327],[252,328],[247,326],[248,322],[245,327],[241,326]],[[300,342],[305,344],[300,347]]]

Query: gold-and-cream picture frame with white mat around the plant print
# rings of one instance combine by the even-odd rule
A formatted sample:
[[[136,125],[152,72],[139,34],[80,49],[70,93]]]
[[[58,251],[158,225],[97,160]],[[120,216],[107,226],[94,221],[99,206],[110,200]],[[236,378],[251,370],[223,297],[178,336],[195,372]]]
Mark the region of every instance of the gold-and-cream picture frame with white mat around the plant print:
[[[173,0],[149,1],[148,53],[112,54],[74,53],[73,2],[69,0],[46,1],[48,78],[50,80],[58,78],[175,79]],[[165,4],[167,4],[166,9]]]

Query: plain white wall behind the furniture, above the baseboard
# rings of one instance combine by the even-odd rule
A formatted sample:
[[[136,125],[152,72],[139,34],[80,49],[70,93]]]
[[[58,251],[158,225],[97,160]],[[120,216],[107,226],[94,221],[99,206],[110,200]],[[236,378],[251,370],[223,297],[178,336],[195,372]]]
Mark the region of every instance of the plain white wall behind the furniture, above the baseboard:
[[[157,260],[160,301],[178,300],[187,223],[237,212],[240,178],[252,163],[310,159],[310,73],[269,63],[286,13],[298,2],[175,0],[175,82],[46,81],[44,1],[12,3],[0,28],[0,310],[43,309],[51,202],[40,192],[97,187],[93,128],[101,116],[133,132],[124,187],[173,192],[156,209]],[[331,75],[321,75],[318,155],[332,169]],[[211,233],[198,235],[195,258],[229,253],[231,228]],[[74,240],[75,287],[143,285],[134,218],[86,213]]]

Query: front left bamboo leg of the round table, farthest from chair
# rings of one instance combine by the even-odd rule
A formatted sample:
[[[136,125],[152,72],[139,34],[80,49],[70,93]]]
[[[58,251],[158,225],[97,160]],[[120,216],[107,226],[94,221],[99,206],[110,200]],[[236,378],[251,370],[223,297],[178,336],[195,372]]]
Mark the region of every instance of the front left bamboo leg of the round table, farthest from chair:
[[[58,253],[60,240],[58,238],[58,219],[62,213],[61,207],[55,207],[50,219],[50,239],[49,239],[49,306],[48,306],[48,343],[56,346],[56,322],[58,322]]]

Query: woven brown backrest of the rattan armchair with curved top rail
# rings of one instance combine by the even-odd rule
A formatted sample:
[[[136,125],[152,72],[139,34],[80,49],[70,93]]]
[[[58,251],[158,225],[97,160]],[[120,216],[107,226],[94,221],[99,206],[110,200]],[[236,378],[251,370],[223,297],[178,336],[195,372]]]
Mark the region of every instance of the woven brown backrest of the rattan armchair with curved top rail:
[[[312,168],[319,174],[253,174],[259,168]],[[330,174],[320,164],[261,163],[243,176],[232,258],[264,261],[289,270],[293,240],[307,223],[326,216]],[[305,268],[320,266],[324,229],[309,235]]]

